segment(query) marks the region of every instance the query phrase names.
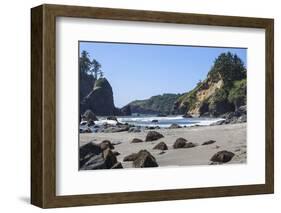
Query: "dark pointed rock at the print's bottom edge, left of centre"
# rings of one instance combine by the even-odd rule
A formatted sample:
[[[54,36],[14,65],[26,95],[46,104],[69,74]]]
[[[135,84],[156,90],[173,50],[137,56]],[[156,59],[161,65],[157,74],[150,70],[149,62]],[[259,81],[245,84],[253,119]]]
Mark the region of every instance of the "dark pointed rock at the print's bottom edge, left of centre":
[[[138,152],[133,165],[135,168],[158,167],[156,159],[147,150]]]

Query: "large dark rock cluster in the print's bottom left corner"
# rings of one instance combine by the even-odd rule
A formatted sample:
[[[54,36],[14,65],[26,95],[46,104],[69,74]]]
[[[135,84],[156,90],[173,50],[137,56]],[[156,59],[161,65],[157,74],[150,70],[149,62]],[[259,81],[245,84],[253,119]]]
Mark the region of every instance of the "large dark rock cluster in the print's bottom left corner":
[[[90,142],[79,149],[79,168],[81,170],[95,169],[121,169],[121,162],[116,156],[120,153],[113,152],[113,144],[104,140],[100,144]]]

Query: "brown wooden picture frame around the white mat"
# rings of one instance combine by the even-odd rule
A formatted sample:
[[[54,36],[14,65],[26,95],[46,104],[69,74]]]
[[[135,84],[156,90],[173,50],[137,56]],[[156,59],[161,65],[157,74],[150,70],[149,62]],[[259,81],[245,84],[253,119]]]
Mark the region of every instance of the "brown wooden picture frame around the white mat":
[[[56,17],[231,26],[266,32],[265,184],[56,195]],[[31,203],[42,208],[267,194],[274,191],[274,21],[217,15],[41,5],[31,9]]]

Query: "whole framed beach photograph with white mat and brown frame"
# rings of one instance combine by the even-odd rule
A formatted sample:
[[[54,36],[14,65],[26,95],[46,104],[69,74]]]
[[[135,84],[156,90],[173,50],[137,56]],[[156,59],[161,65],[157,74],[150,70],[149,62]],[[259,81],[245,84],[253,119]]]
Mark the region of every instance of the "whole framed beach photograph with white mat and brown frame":
[[[273,19],[31,9],[31,203],[274,191]]]

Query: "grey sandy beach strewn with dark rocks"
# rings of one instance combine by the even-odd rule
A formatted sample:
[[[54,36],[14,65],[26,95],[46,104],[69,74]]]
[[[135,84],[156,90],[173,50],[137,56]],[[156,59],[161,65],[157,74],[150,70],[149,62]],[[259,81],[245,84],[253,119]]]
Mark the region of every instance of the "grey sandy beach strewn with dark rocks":
[[[80,134],[80,146],[89,142],[100,143],[110,140],[114,145],[114,151],[120,153],[117,160],[124,168],[133,167],[132,162],[123,162],[123,158],[142,149],[149,151],[156,159],[159,167],[162,166],[189,166],[208,165],[210,158],[217,152],[227,150],[235,156],[228,164],[246,163],[246,126],[247,123],[198,126],[178,129],[157,129],[164,137],[152,142],[131,143],[132,139],[144,140],[149,130],[142,132],[117,132],[117,133],[83,133]],[[173,144],[177,138],[185,138],[198,146],[192,148],[174,149]],[[214,140],[215,143],[202,145],[203,142]],[[154,150],[159,142],[165,142],[168,150]],[[121,143],[120,143],[121,142]]]

